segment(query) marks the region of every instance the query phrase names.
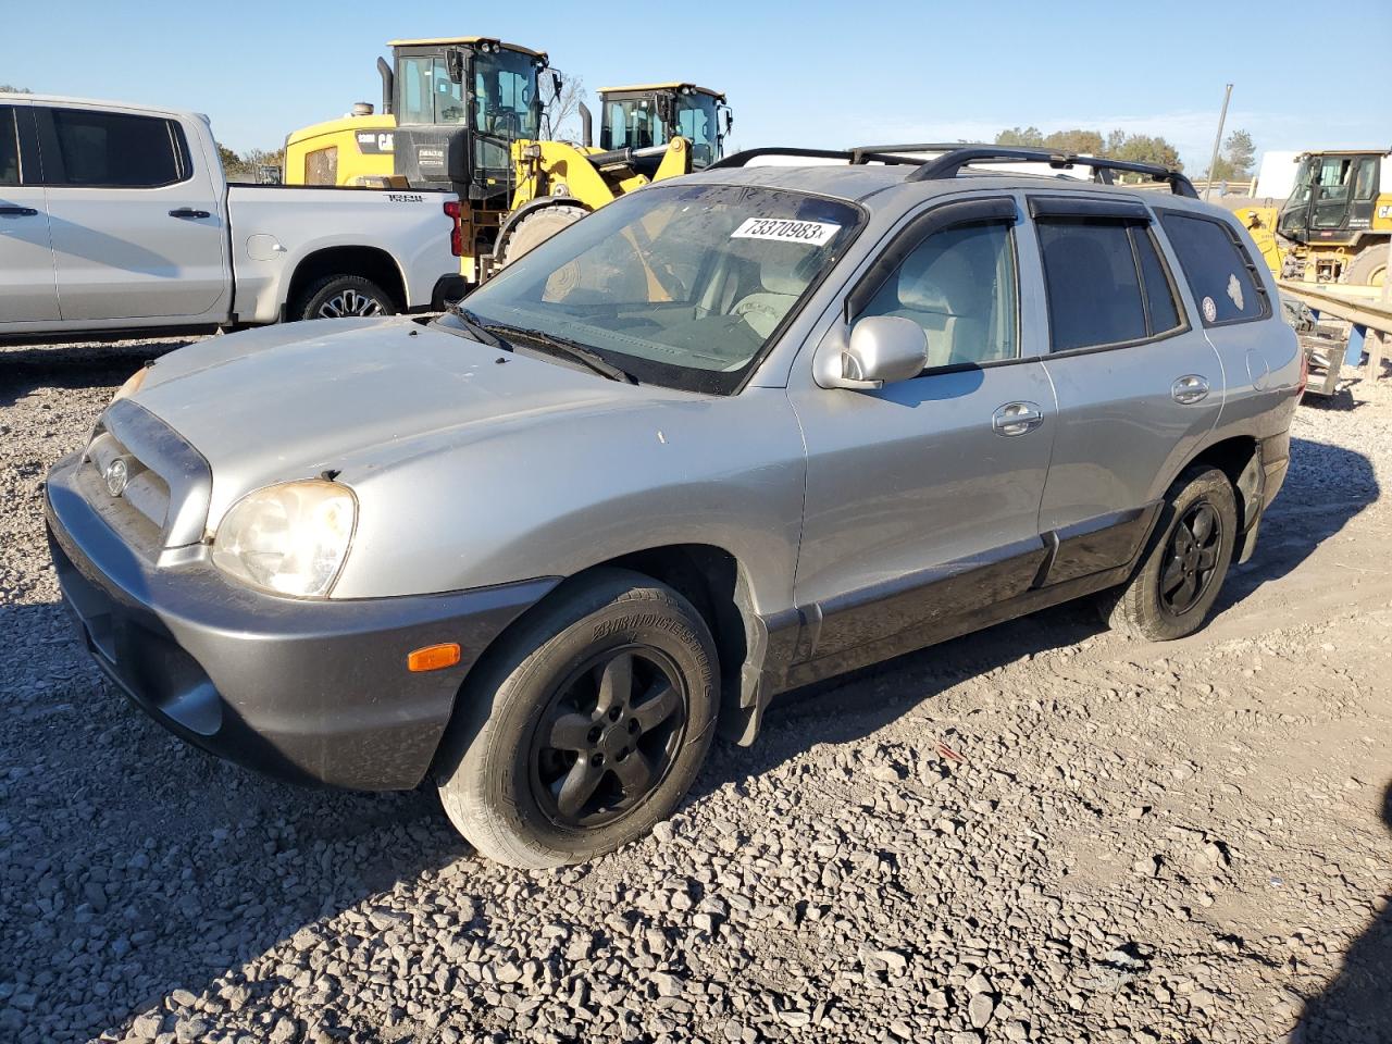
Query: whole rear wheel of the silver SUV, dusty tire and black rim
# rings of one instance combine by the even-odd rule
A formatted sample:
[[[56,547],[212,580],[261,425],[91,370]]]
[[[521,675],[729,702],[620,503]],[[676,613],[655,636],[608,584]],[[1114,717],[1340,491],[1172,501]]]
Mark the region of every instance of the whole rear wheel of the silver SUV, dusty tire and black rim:
[[[1134,575],[1104,599],[1107,622],[1151,642],[1194,633],[1218,600],[1236,537],[1237,500],[1228,476],[1190,468],[1169,487]]]

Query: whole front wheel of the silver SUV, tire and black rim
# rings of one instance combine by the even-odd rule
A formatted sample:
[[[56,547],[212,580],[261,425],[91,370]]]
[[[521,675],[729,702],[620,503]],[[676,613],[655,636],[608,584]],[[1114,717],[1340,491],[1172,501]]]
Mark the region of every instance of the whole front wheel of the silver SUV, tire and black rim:
[[[667,818],[720,706],[710,629],[671,587],[604,569],[551,597],[465,685],[466,748],[440,780],[459,832],[526,869],[590,860]]]

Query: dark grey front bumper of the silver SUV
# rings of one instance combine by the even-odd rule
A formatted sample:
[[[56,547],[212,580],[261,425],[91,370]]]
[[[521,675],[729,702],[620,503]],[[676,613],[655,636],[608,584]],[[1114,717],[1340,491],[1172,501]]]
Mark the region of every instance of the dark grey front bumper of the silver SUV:
[[[49,547],[97,665],[156,721],[220,757],[295,782],[408,789],[426,775],[455,695],[494,638],[557,580],[445,594],[298,600],[227,580],[205,555],[155,568],[78,491],[78,455],[49,473]],[[458,642],[412,674],[406,654]]]

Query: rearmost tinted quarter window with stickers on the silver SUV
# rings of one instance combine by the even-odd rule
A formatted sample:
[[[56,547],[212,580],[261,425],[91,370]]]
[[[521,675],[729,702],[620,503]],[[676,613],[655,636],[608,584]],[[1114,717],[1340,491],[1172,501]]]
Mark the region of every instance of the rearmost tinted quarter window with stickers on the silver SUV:
[[[1247,323],[1271,315],[1267,291],[1236,232],[1225,221],[1168,210],[1161,216],[1204,326]]]

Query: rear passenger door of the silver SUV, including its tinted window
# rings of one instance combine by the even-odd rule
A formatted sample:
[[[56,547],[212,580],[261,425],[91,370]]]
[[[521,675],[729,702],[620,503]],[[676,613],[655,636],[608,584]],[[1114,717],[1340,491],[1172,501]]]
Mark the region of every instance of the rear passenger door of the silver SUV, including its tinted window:
[[[1058,541],[1044,582],[1058,583],[1130,562],[1218,419],[1224,370],[1140,202],[1027,200],[1059,411],[1040,508],[1040,529]]]

